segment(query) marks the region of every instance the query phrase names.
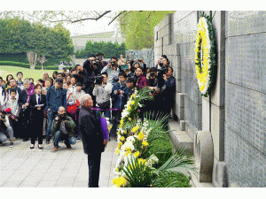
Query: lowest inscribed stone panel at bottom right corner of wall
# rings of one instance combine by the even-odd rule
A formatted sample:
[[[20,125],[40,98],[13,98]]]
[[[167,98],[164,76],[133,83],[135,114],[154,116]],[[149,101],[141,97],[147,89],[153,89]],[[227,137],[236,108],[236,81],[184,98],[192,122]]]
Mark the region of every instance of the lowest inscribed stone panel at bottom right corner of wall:
[[[246,142],[225,122],[225,163],[229,183],[239,187],[265,188],[265,155]]]

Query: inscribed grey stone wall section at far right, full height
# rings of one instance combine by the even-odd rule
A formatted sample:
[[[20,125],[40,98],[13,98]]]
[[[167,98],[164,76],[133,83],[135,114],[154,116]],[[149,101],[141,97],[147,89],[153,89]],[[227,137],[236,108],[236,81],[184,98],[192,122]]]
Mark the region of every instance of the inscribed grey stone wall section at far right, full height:
[[[225,162],[239,187],[266,186],[266,11],[227,11]]]

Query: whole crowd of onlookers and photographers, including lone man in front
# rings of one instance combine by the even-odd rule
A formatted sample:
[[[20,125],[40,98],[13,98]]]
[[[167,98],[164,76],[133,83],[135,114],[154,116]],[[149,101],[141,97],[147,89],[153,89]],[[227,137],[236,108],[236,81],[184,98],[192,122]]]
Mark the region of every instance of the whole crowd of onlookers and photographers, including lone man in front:
[[[52,139],[55,152],[59,142],[65,142],[66,148],[71,149],[72,144],[82,140],[84,152],[90,156],[89,168],[93,164],[99,166],[99,154],[107,143],[98,137],[100,113],[112,121],[110,136],[116,137],[127,100],[135,88],[146,87],[151,88],[154,100],[145,104],[142,112],[160,111],[168,115],[176,92],[168,57],[163,55],[157,65],[147,67],[143,59],[125,60],[121,56],[106,62],[104,55],[98,53],[83,65],[54,71],[51,77],[43,73],[43,79],[36,82],[32,78],[23,80],[21,72],[17,77],[8,74],[5,80],[0,77],[0,144],[7,137],[10,147],[14,146],[13,137],[23,142],[30,138],[30,149],[35,149],[36,140],[38,148],[43,149],[43,139],[46,144],[51,144]],[[97,148],[95,144],[100,142],[103,144]],[[94,180],[90,180],[89,186],[97,187],[98,175],[90,173],[90,178]]]

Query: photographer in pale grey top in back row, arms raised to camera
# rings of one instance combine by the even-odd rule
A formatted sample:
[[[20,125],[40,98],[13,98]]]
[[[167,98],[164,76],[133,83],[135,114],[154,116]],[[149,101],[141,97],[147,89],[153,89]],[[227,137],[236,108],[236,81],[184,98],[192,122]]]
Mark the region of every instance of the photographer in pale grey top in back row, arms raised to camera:
[[[108,81],[112,85],[115,83],[115,80],[118,80],[119,68],[117,67],[117,58],[112,57],[111,62],[109,62],[102,70],[101,73],[107,73]]]

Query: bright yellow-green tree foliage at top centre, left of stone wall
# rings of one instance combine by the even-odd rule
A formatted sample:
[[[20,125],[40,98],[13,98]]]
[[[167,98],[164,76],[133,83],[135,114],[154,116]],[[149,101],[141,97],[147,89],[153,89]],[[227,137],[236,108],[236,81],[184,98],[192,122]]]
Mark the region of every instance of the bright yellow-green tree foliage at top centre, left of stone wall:
[[[175,11],[127,11],[119,16],[121,34],[129,50],[150,49],[154,46],[154,27]]]

